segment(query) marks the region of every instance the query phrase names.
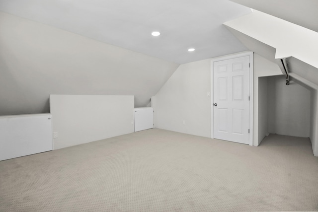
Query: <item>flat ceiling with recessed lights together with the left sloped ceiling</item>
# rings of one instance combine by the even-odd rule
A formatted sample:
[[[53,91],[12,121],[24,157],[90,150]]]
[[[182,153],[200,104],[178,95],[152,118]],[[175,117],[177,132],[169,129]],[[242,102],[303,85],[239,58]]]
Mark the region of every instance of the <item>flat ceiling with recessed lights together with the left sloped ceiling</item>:
[[[247,50],[222,23],[251,12],[229,0],[0,0],[0,11],[0,115],[49,112],[50,94],[146,106],[179,64]]]

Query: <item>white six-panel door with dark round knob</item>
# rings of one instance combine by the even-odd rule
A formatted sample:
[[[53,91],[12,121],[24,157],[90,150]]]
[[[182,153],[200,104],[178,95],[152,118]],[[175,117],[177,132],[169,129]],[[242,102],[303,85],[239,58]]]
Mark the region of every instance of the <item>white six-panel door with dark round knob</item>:
[[[213,63],[214,138],[249,143],[249,56]]]

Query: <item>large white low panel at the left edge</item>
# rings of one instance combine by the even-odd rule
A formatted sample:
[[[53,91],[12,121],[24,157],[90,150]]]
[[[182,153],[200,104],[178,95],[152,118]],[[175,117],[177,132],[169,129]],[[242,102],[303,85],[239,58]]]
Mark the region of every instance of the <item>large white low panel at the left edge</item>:
[[[50,151],[51,114],[0,116],[0,160]]]

